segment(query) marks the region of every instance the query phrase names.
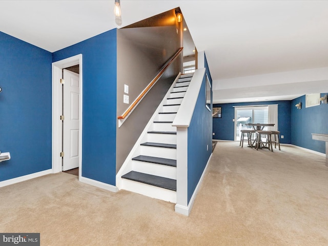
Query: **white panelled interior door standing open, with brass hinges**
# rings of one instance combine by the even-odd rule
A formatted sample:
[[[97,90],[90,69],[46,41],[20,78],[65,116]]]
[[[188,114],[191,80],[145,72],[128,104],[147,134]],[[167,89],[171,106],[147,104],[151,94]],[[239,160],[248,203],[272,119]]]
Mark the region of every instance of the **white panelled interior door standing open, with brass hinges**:
[[[79,153],[79,75],[63,70],[63,171],[78,167]]]

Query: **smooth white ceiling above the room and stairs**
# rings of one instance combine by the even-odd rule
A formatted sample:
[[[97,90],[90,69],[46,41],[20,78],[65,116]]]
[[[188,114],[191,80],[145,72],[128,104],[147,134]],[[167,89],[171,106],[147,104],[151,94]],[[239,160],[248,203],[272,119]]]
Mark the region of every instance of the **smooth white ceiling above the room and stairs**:
[[[113,6],[114,0],[2,0],[0,31],[54,52],[116,28]],[[328,92],[315,80],[292,87],[272,81],[262,88],[241,82],[258,74],[328,70],[328,1],[121,0],[121,27],[176,7],[197,50],[207,55],[215,103],[292,99],[314,87]],[[295,93],[295,87],[301,89]]]

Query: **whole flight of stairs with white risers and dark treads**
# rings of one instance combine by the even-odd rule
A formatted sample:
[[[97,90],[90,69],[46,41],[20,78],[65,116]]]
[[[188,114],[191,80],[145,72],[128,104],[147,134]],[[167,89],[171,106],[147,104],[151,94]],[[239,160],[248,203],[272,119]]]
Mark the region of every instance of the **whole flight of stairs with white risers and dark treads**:
[[[176,203],[176,127],[173,120],[193,74],[183,74],[171,87],[151,118],[130,163],[124,168],[120,188]]]

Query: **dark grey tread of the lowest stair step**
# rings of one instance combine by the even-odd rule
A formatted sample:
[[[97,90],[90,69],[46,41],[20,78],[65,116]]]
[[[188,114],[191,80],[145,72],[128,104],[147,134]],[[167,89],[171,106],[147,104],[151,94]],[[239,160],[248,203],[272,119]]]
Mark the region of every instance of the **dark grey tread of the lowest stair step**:
[[[139,173],[135,171],[131,171],[123,175],[122,178],[130,179],[141,183],[146,183],[147,185],[164,188],[171,191],[176,191],[176,180],[171,178],[164,178],[151,174]]]

